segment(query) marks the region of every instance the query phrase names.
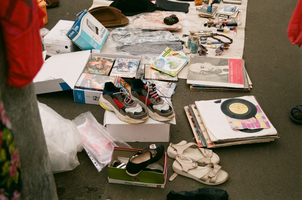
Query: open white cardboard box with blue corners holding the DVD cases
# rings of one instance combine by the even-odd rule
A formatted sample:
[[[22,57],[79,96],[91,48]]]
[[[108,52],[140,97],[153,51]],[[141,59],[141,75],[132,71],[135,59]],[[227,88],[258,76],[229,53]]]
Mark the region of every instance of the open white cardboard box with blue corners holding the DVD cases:
[[[96,52],[92,52],[96,51]],[[44,58],[46,51],[43,52]],[[100,53],[98,50],[85,50],[70,53],[56,54],[48,58],[34,78],[36,94],[57,92],[74,89],[76,103],[88,103],[99,105],[101,91],[75,89],[74,86],[82,74],[91,56],[105,56],[113,58],[139,58],[141,56],[119,55]]]

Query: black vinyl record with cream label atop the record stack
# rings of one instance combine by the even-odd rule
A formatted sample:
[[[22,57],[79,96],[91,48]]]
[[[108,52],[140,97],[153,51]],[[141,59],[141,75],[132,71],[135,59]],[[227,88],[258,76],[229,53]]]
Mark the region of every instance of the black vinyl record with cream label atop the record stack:
[[[252,102],[239,98],[223,101],[220,109],[226,116],[235,119],[249,119],[257,114],[257,108]]]

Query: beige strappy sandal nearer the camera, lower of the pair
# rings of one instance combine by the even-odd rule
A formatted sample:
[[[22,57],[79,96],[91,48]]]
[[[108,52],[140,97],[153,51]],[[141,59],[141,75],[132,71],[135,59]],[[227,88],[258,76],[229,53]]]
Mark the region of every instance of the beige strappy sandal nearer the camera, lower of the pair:
[[[228,179],[228,173],[220,170],[221,166],[217,164],[210,163],[205,167],[201,167],[184,155],[178,155],[175,159],[172,165],[173,171],[182,176],[189,177],[207,185],[218,185]],[[175,175],[173,179],[174,178]]]

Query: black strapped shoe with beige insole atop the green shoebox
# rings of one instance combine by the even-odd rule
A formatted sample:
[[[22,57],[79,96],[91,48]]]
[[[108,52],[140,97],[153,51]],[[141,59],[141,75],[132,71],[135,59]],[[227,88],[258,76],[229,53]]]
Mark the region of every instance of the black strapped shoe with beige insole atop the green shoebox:
[[[160,160],[165,148],[162,144],[151,144],[143,151],[134,154],[129,158],[126,165],[126,172],[130,176],[136,176],[149,164],[155,163]]]

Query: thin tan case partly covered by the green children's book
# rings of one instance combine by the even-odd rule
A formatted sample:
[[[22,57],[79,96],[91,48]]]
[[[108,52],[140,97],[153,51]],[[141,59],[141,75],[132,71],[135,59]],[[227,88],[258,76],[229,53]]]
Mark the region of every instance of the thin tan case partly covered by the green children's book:
[[[178,81],[177,75],[174,77],[165,74],[162,71],[158,71],[152,68],[152,65],[150,64],[145,64],[144,75],[145,75],[145,79],[159,80],[159,81]]]

